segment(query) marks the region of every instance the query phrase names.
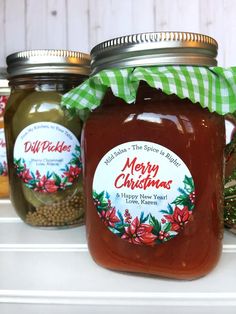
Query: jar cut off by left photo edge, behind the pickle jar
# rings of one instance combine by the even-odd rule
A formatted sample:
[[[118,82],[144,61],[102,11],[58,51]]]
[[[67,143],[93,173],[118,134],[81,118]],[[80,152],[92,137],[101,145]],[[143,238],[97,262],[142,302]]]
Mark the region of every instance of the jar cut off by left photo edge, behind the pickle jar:
[[[0,198],[7,198],[9,196],[6,141],[3,122],[9,94],[10,88],[8,87],[6,73],[0,70]]]

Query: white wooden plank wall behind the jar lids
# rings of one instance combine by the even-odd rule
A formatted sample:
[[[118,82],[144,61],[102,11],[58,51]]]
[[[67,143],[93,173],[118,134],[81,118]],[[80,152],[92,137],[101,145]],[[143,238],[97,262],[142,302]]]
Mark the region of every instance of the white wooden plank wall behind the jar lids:
[[[235,13],[235,0],[0,0],[0,66],[19,50],[89,52],[112,37],[161,30],[213,36],[219,65],[232,66]]]

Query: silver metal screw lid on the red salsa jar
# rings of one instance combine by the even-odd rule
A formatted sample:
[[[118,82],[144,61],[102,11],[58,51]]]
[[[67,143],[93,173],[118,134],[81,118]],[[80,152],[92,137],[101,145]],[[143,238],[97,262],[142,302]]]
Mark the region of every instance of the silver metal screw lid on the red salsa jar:
[[[92,74],[108,68],[153,65],[217,65],[218,44],[206,35],[158,32],[104,41],[91,51]]]

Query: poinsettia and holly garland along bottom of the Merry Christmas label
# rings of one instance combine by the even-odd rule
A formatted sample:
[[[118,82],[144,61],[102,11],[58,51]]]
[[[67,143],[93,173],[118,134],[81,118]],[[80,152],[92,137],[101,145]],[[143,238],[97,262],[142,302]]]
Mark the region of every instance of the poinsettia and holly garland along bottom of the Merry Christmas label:
[[[159,221],[151,213],[132,217],[129,210],[124,214],[112,205],[106,191],[93,191],[93,201],[98,215],[104,225],[123,240],[138,245],[154,245],[174,238],[190,220],[195,202],[193,179],[185,176],[184,188],[179,188],[178,195],[167,209],[160,212],[163,218]]]

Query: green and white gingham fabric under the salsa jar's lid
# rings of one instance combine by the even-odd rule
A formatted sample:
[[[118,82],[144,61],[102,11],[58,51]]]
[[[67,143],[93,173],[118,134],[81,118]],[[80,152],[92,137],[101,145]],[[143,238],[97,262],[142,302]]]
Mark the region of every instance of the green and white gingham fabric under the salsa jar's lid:
[[[94,110],[111,88],[114,96],[133,103],[140,81],[165,94],[176,94],[224,115],[236,111],[236,67],[142,66],[98,72],[62,97],[68,109]]]

